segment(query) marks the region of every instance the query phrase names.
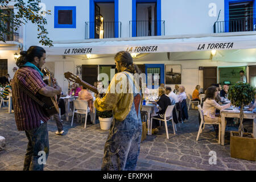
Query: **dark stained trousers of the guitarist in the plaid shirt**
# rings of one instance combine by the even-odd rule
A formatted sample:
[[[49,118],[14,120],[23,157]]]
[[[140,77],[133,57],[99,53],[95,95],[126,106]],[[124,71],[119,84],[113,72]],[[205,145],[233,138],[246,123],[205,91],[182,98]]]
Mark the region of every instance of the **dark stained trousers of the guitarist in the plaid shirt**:
[[[47,123],[42,123],[36,129],[26,130],[25,133],[28,144],[23,171],[43,171],[43,161],[46,161],[49,155]]]

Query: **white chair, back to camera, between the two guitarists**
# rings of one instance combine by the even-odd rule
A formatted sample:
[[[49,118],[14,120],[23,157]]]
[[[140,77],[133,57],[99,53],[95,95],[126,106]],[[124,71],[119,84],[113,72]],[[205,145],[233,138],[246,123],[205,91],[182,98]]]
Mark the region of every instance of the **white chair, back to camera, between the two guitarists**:
[[[74,110],[73,110],[71,126],[73,125],[73,119],[74,119],[75,113],[85,114],[84,128],[86,129],[87,115],[90,112],[90,109],[88,109],[88,102],[83,100],[73,100],[73,104],[74,104]],[[81,117],[81,122],[82,122],[82,117]]]

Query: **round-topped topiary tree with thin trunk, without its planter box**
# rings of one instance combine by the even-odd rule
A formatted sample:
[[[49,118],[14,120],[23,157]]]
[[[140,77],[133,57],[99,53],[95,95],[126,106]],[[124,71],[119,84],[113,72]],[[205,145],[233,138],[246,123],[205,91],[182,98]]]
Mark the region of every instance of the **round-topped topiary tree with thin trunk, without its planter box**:
[[[240,109],[240,126],[238,132],[243,137],[243,106],[249,105],[254,98],[255,88],[250,84],[238,82],[229,89],[228,99],[235,107],[241,107]]]

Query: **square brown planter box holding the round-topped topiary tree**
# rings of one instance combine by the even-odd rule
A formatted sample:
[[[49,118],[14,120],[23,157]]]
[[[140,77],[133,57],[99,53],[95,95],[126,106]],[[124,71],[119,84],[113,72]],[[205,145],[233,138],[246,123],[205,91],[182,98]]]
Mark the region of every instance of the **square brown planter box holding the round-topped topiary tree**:
[[[237,131],[230,131],[230,155],[232,158],[256,160],[256,138],[251,133],[243,133],[243,136],[251,135],[249,137],[239,137]]]

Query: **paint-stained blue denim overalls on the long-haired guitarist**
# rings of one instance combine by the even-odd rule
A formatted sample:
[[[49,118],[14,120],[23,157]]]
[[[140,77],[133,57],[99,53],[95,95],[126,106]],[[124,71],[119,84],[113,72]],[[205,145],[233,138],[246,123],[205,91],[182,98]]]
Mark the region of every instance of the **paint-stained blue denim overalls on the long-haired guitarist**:
[[[130,76],[127,73],[125,75],[135,90]],[[134,171],[136,169],[142,134],[141,92],[134,92],[133,96],[133,105],[125,120],[114,119],[112,123],[105,143],[102,171]]]

